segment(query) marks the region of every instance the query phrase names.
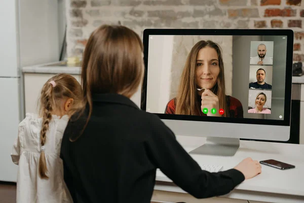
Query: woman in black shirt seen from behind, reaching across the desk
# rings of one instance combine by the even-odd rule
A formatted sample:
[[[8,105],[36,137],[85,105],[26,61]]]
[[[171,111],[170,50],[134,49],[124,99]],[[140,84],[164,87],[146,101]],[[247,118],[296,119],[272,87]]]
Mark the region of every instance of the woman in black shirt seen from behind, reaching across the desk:
[[[229,193],[260,173],[250,158],[228,171],[202,171],[159,117],[130,100],[142,83],[142,52],[139,36],[124,26],[103,25],[88,40],[82,66],[87,105],[69,120],[61,146],[74,202],[150,202],[157,168],[198,198]]]

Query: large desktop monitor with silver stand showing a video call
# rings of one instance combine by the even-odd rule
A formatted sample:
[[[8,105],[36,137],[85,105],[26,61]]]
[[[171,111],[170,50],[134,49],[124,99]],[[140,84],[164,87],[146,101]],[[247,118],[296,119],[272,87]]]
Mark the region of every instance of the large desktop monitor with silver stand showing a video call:
[[[145,29],[143,45],[141,109],[177,135],[206,137],[191,153],[289,140],[292,30]]]

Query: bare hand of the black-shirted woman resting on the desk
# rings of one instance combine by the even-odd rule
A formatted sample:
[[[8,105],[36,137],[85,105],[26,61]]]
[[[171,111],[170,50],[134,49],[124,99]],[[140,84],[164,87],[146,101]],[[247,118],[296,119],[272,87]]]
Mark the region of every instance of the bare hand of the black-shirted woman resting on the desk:
[[[245,180],[261,173],[261,164],[257,160],[252,160],[250,157],[245,158],[234,168],[245,176]]]

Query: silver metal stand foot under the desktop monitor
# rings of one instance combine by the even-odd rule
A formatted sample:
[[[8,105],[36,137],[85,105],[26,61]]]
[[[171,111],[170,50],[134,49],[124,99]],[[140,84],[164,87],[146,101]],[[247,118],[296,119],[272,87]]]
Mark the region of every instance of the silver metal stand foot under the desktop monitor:
[[[240,147],[239,138],[207,137],[206,143],[189,154],[234,156]]]

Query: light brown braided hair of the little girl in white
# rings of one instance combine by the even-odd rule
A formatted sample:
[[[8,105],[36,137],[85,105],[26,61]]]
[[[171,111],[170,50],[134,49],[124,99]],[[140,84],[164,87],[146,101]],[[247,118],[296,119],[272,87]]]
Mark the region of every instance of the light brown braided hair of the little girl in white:
[[[53,87],[53,84],[55,85]],[[72,106],[67,112],[73,114],[83,107],[83,94],[80,83],[68,74],[57,74],[50,78],[43,86],[40,97],[40,116],[43,118],[40,141],[42,149],[47,139],[47,131],[54,112],[62,112],[62,100],[72,98]],[[39,174],[41,178],[48,179],[47,163],[44,150],[41,150],[39,159]]]

